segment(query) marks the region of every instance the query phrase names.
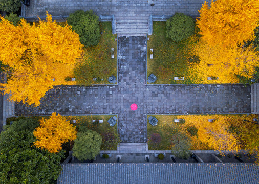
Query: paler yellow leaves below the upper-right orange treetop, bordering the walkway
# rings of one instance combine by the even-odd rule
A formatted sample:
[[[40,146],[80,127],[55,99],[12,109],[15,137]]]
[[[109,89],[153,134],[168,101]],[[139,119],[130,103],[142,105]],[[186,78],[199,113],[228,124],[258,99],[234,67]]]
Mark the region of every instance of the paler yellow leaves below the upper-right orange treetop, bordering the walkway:
[[[190,67],[190,78],[195,83],[239,83],[236,75],[251,79],[259,66],[258,52],[252,46],[227,48],[200,41],[192,52],[200,58],[199,63]],[[207,77],[219,79],[207,80]]]

